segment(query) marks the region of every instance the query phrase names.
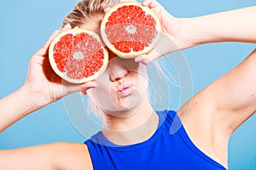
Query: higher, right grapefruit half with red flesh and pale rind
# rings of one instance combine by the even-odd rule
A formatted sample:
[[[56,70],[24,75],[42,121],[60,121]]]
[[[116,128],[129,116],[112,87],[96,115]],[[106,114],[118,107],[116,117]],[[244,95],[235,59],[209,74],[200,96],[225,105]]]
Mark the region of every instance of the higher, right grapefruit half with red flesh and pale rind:
[[[101,24],[103,41],[122,58],[148,54],[158,42],[160,30],[158,16],[137,2],[114,5],[104,15]]]

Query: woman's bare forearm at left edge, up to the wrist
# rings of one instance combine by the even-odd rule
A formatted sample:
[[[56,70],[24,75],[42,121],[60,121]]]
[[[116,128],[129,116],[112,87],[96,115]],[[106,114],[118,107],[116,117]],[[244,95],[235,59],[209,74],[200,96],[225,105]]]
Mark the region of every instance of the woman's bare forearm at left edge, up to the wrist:
[[[22,87],[13,94],[0,99],[0,133],[22,117],[43,107],[44,100]]]

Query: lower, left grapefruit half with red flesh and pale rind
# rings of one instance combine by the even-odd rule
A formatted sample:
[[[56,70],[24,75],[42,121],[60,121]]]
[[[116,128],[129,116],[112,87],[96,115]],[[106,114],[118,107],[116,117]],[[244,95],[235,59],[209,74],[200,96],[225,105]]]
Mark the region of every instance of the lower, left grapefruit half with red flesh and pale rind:
[[[67,82],[90,82],[106,70],[108,51],[95,32],[70,29],[62,31],[50,43],[49,63]]]

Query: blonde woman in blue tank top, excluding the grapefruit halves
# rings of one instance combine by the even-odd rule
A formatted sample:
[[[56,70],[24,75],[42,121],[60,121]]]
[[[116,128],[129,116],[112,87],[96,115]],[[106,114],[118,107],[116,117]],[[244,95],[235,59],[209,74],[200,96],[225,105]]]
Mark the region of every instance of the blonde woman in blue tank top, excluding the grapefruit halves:
[[[155,112],[149,105],[146,95],[148,75],[145,68],[150,60],[177,49],[208,42],[256,42],[255,23],[244,20],[255,18],[255,7],[191,19],[177,19],[154,0],[143,3],[159,15],[164,33],[177,44],[177,48],[156,47],[158,51],[161,49],[161,53],[153,50],[150,54],[138,56],[135,60],[119,59],[110,52],[108,69],[102,76],[95,82],[74,85],[68,82],[61,83],[61,79],[49,66],[47,49],[51,40],[60,32],[55,31],[44,47],[32,56],[25,84],[15,93],[1,99],[1,132],[32,111],[49,105],[67,94],[87,92],[101,111],[104,122],[102,133],[97,133],[85,144],[55,143],[18,150],[0,150],[0,167],[3,169],[224,169],[228,167],[227,144],[230,135],[256,110],[256,81],[253,78],[256,72],[253,65],[256,61],[256,51],[224,77],[220,77],[201,90],[177,111]],[[67,25],[70,24],[71,27],[79,26],[98,31],[104,9],[112,5],[112,1],[82,1],[64,20],[63,30],[70,28]],[[236,20],[231,20],[232,18]],[[129,93],[119,94],[119,90],[123,91],[126,86],[130,89]],[[97,97],[99,95],[103,95],[111,102],[106,103],[106,98]],[[10,108],[10,103],[15,103],[16,106]],[[176,116],[178,119],[175,119]],[[177,132],[170,132],[172,125],[178,127]]]

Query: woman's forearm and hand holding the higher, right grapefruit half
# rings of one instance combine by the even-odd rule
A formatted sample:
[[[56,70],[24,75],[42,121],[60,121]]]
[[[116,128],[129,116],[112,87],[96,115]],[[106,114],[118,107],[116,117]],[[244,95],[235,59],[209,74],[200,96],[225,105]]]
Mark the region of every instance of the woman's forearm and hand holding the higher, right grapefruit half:
[[[136,60],[148,64],[151,60],[177,50],[211,42],[256,42],[256,6],[207,14],[191,18],[176,18],[155,0],[143,4],[158,14],[162,24],[160,42],[152,52]]]

